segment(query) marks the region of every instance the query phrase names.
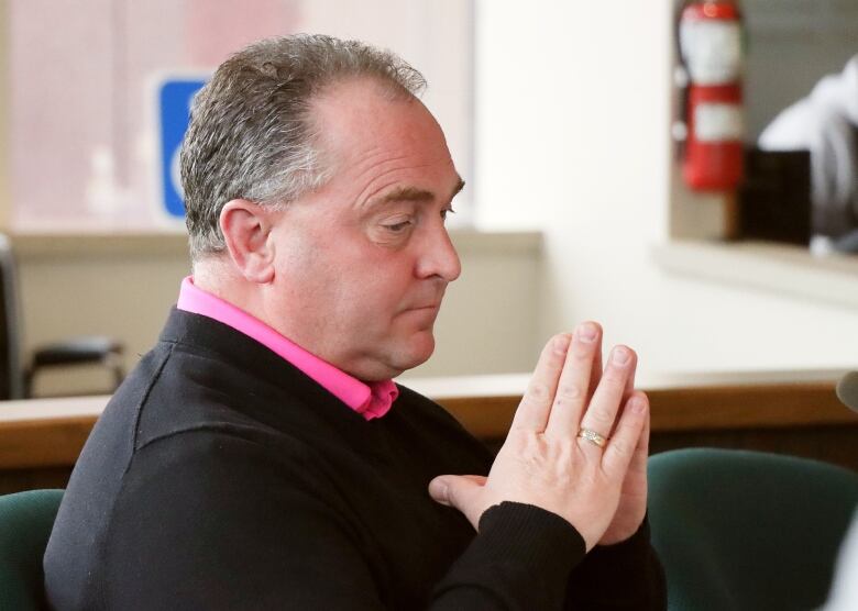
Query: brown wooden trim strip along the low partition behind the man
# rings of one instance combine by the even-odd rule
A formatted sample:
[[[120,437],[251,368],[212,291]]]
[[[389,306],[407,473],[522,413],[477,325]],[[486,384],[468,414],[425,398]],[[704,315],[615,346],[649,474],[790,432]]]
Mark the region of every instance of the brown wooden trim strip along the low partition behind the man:
[[[647,388],[652,433],[785,430],[858,425],[840,404],[836,378],[804,382],[719,382]],[[483,440],[506,436],[520,393],[435,397],[465,429]],[[107,397],[0,403],[0,470],[74,465]]]

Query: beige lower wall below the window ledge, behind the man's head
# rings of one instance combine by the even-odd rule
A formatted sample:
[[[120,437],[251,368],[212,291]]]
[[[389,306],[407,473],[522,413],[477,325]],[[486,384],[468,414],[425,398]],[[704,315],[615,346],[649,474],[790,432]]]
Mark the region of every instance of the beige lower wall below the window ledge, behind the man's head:
[[[436,323],[437,349],[410,377],[524,371],[538,354],[534,313],[540,297],[539,235],[453,232],[462,276],[448,287]],[[125,365],[157,340],[179,282],[189,273],[182,235],[18,237],[24,356],[74,335],[124,343]],[[97,367],[55,368],[36,379],[40,395],[99,391]]]

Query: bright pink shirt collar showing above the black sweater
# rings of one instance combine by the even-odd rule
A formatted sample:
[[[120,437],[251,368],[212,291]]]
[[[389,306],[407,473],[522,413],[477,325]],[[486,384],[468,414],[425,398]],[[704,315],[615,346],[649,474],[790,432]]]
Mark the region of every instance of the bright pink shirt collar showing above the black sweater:
[[[256,340],[260,344],[266,346],[312,378],[319,386],[366,420],[381,418],[386,414],[399,395],[399,390],[393,380],[383,380],[367,385],[358,378],[353,378],[345,371],[338,369],[330,363],[290,342],[248,312],[198,288],[194,285],[194,279],[190,276],[182,281],[176,308],[215,319]]]

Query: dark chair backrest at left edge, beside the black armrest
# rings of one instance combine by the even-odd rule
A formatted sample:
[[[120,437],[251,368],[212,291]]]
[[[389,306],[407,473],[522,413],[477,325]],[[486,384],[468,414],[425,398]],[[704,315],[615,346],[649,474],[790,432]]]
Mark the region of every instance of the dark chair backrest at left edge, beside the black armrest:
[[[18,278],[12,246],[0,234],[0,400],[24,397]]]

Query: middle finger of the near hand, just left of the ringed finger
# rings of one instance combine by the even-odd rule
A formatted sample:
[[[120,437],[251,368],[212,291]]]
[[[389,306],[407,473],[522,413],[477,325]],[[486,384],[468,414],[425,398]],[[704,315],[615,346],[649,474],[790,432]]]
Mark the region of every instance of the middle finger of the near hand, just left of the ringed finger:
[[[601,344],[602,327],[598,324],[585,322],[575,330],[548,416],[547,435],[559,438],[578,433]]]

